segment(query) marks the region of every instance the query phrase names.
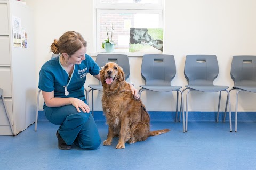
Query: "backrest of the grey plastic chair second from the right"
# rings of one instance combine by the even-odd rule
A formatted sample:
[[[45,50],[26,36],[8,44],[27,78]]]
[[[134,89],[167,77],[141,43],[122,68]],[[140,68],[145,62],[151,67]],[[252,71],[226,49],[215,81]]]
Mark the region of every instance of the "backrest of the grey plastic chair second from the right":
[[[216,55],[187,55],[184,75],[189,85],[213,85],[219,74]]]

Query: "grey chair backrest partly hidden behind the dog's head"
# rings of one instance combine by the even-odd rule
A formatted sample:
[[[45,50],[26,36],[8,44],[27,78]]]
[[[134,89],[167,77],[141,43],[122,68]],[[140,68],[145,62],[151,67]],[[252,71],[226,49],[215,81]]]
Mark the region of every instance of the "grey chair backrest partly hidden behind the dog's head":
[[[100,67],[105,66],[108,62],[115,62],[124,70],[125,80],[130,75],[129,58],[126,54],[98,54],[95,61]]]

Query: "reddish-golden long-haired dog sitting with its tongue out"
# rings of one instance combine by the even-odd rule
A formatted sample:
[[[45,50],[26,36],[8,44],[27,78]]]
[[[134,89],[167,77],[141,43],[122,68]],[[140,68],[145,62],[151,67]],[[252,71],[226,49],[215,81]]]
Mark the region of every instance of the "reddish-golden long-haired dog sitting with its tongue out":
[[[109,62],[100,70],[103,86],[102,108],[108,124],[108,137],[103,145],[111,145],[113,137],[119,136],[117,149],[125,148],[125,143],[145,141],[170,131],[169,129],[150,131],[150,117],[140,99],[134,99],[130,85],[125,81],[123,69]]]

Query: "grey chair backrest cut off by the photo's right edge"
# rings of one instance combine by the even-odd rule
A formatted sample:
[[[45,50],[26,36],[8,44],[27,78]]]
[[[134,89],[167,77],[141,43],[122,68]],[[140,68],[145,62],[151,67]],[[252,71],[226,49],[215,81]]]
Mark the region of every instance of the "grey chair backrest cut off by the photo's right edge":
[[[256,86],[256,56],[233,56],[230,75],[236,86]]]

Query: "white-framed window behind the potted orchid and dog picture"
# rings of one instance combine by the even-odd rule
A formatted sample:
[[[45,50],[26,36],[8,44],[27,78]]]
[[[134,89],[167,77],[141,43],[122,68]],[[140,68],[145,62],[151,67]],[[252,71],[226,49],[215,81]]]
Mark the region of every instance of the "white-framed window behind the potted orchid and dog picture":
[[[111,31],[114,52],[129,52],[130,28],[163,28],[164,0],[95,0],[96,51]],[[111,33],[109,33],[111,40]]]

